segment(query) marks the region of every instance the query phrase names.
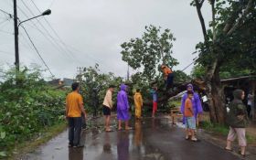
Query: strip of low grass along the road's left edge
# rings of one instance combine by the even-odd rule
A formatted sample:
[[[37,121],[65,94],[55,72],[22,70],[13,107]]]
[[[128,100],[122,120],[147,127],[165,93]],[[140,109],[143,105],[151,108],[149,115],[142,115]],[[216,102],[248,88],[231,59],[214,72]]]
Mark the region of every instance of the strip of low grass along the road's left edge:
[[[31,138],[30,141],[16,144],[15,148],[12,151],[9,151],[10,156],[7,159],[16,159],[17,156],[33,152],[39,145],[47,143],[50,139],[63,132],[66,128],[67,123],[65,121],[45,127],[37,133],[37,136]]]

